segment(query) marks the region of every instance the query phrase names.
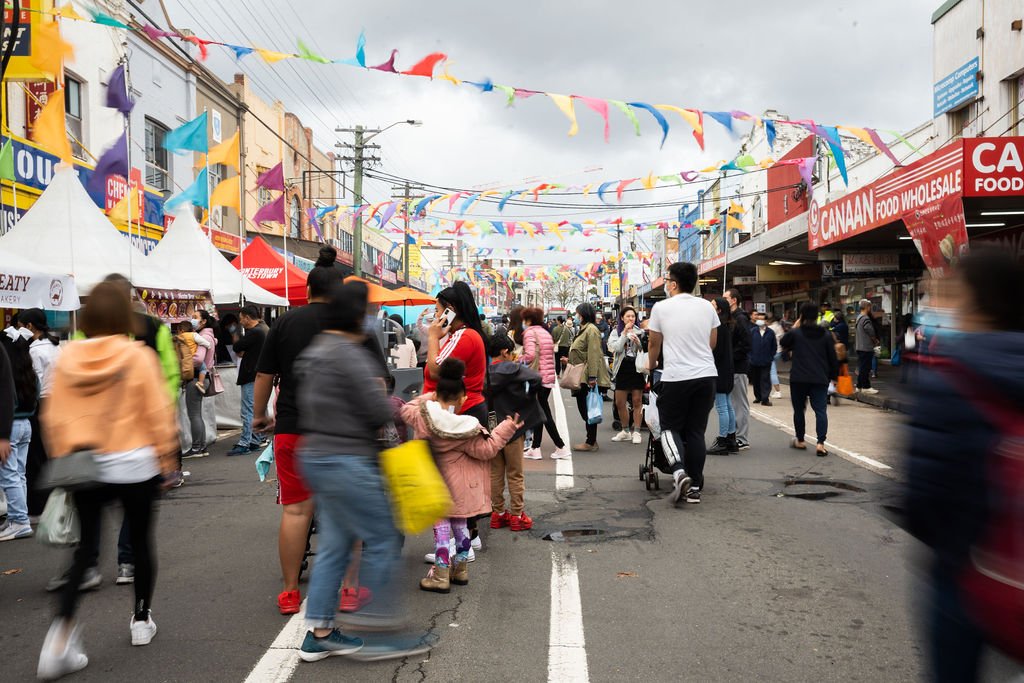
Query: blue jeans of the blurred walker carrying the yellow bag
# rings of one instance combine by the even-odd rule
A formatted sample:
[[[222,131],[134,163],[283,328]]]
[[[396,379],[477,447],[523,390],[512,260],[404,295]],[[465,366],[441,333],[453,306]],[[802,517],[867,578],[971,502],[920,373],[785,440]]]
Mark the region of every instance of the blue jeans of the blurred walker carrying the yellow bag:
[[[395,528],[377,458],[299,452],[299,467],[316,504],[316,559],[309,578],[306,625],[334,627],[338,592],[352,544],[362,541],[359,585],[373,602],[359,610],[382,623],[397,621],[401,535]]]

